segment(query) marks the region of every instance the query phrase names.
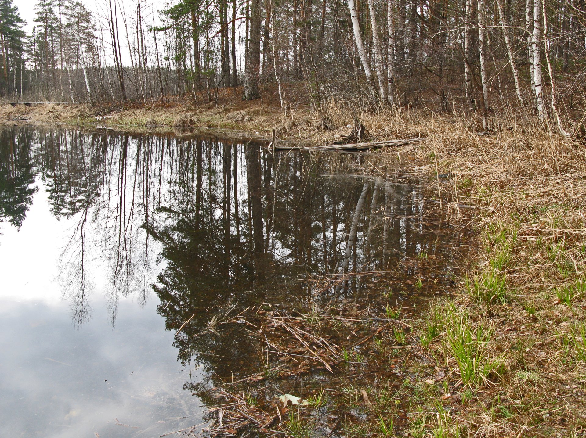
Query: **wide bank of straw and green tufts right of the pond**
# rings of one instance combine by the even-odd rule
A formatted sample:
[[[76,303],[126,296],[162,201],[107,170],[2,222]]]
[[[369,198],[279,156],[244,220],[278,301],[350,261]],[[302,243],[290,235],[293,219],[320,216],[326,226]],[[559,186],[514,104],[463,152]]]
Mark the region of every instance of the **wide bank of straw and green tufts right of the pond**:
[[[586,150],[530,119],[493,122],[495,132],[478,136],[464,120],[406,121],[425,124],[429,140],[383,152],[389,162],[403,156],[404,170],[447,174],[441,208],[482,238],[459,290],[411,333],[441,372],[403,388],[408,434],[583,436]]]

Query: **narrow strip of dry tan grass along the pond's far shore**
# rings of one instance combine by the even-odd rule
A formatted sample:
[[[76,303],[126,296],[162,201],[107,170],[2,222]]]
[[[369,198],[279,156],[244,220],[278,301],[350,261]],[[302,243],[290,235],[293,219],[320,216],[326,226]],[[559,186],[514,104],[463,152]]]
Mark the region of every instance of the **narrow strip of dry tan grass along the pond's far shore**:
[[[4,125],[66,125],[92,128],[106,126],[125,132],[175,132],[189,129],[222,129],[226,135],[277,138],[292,141],[330,143],[348,134],[349,126],[359,117],[373,139],[397,136],[418,136],[417,129],[406,129],[403,117],[396,112],[381,110],[373,114],[343,102],[327,102],[319,111],[312,111],[307,102],[280,107],[276,90],[267,90],[263,100],[242,101],[239,90],[224,90],[217,102],[195,104],[179,98],[151,105],[142,104],[46,104],[0,106],[0,124]],[[416,114],[427,118],[430,111]],[[409,126],[414,128],[414,126]]]

